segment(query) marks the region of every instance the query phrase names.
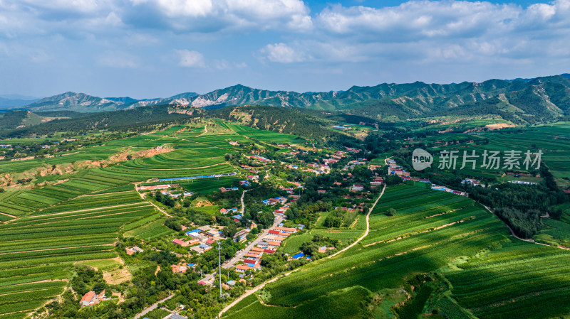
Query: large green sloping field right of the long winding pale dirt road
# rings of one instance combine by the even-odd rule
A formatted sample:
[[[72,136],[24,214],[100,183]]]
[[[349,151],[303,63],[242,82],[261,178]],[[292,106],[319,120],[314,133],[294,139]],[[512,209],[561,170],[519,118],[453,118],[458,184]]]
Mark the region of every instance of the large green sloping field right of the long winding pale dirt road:
[[[397,211],[395,216],[385,215],[389,208]],[[455,287],[453,297],[460,305],[484,318],[544,318],[528,311],[509,316],[517,306],[527,307],[527,297],[532,291],[556,296],[549,303],[549,315],[566,314],[567,306],[556,306],[556,303],[561,302],[564,293],[568,296],[561,287],[570,287],[570,281],[566,279],[570,266],[563,266],[564,263],[568,264],[566,258],[570,258],[570,254],[563,249],[520,244],[508,235],[507,227],[502,222],[472,200],[408,185],[390,187],[373,211],[370,233],[360,244],[333,259],[321,259],[270,283],[263,296],[265,303],[271,307],[263,306],[257,298],[247,298],[224,317],[247,318],[253,311],[263,318],[306,317],[307,313],[318,313],[328,299],[336,294],[342,295],[347,290],[366,291],[364,296],[398,291],[415,275],[433,271],[449,274]],[[503,248],[499,249],[501,246]],[[519,247],[519,251],[512,251],[512,247]],[[489,250],[491,253],[487,255]],[[553,253],[556,254],[553,256]],[[539,256],[544,259],[537,259]],[[560,261],[554,262],[558,258]],[[472,261],[461,264],[466,260]],[[534,266],[517,270],[517,266],[524,263]],[[544,271],[546,264],[552,265],[553,270],[539,277],[544,280],[530,283],[536,279],[534,275],[539,276],[538,272]],[[464,265],[465,270],[461,270]],[[502,265],[507,266],[508,274],[502,272]],[[525,275],[523,269],[532,267],[536,267],[536,271]],[[485,271],[487,269],[494,270]],[[499,274],[505,278],[500,278]],[[477,281],[481,286],[477,288],[474,285],[475,288],[471,289],[470,284],[465,283],[463,288],[461,281]],[[558,282],[550,286],[554,281]],[[460,287],[457,288],[455,283]],[[525,287],[527,283],[528,288]],[[519,289],[514,289],[512,294],[500,289],[497,296],[489,298],[490,289],[501,284],[518,285]],[[554,288],[554,291],[550,291],[550,288]],[[343,306],[362,310],[362,300],[349,303],[350,298],[346,298],[343,299]],[[497,301],[497,305],[489,305],[494,301]],[[503,306],[502,302],[506,304]],[[376,308],[389,306],[392,305],[380,302]],[[447,309],[450,314],[456,313],[455,318],[467,318],[461,317],[468,314],[467,310],[458,307],[452,299],[443,298],[438,306]],[[420,305],[421,308],[423,306]],[[504,315],[492,316],[493,312],[504,312]],[[341,318],[359,318],[359,315],[355,312]],[[309,317],[325,318],[318,315]]]

